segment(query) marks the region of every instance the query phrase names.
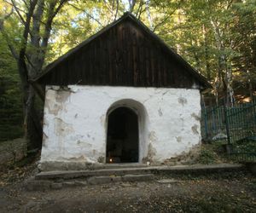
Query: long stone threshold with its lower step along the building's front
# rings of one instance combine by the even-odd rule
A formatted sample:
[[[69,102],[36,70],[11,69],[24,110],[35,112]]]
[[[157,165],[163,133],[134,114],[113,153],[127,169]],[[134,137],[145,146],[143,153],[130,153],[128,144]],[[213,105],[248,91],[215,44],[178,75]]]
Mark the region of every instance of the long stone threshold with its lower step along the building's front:
[[[29,191],[45,191],[62,187],[83,187],[86,185],[114,182],[154,181],[158,176],[211,175],[247,170],[243,164],[194,164],[176,166],[120,167],[101,170],[55,170],[40,172],[25,182]]]

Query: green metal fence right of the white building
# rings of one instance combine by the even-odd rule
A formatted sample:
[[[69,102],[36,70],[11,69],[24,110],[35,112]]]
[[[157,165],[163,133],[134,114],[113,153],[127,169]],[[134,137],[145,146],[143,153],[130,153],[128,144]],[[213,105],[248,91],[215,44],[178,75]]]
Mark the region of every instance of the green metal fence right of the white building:
[[[202,107],[201,134],[204,141],[229,144],[230,154],[241,161],[256,161],[256,101]]]

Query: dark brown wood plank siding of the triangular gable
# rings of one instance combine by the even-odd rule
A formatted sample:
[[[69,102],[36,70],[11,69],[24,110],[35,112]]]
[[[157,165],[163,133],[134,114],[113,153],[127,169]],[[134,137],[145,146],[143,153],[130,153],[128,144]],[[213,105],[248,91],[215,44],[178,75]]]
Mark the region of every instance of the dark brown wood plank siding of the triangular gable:
[[[136,23],[102,33],[38,79],[49,85],[191,88],[198,80]]]

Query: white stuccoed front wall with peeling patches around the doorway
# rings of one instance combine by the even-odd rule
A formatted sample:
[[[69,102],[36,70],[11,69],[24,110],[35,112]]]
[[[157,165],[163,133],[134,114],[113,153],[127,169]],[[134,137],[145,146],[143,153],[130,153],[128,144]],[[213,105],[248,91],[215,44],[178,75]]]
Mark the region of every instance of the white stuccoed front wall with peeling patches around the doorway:
[[[107,113],[120,106],[138,114],[140,162],[163,162],[201,141],[198,89],[47,86],[41,163],[104,163]]]

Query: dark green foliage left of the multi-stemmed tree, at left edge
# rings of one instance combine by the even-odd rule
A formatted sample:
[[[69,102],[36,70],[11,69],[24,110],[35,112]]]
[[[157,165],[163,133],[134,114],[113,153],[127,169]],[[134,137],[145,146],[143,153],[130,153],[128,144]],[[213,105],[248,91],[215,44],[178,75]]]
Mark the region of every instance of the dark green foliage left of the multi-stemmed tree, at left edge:
[[[0,39],[4,41],[0,34]],[[23,108],[15,59],[6,43],[0,44],[0,141],[23,135]]]

